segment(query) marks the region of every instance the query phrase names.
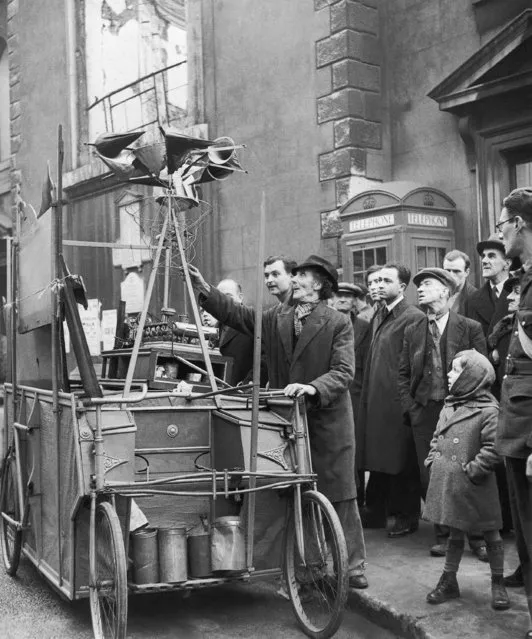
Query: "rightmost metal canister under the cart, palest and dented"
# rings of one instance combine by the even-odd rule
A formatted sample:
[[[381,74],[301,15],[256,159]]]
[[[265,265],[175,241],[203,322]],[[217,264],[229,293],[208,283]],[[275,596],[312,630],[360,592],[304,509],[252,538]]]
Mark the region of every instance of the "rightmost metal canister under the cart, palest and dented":
[[[211,564],[213,572],[242,572],[246,569],[246,540],[240,517],[225,516],[214,520]]]

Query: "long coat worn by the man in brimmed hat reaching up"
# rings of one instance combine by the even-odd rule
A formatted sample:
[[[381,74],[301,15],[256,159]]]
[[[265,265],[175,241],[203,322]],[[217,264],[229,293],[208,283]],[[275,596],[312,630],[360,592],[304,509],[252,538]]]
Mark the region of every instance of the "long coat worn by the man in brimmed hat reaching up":
[[[255,311],[214,288],[200,302],[219,321],[252,334]],[[355,375],[351,320],[320,302],[294,339],[294,306],[281,304],[262,314],[262,339],[271,388],[312,384],[319,401],[307,402],[307,421],[318,489],[332,502],[356,497],[355,426],[349,385]],[[295,343],[294,343],[295,342]]]

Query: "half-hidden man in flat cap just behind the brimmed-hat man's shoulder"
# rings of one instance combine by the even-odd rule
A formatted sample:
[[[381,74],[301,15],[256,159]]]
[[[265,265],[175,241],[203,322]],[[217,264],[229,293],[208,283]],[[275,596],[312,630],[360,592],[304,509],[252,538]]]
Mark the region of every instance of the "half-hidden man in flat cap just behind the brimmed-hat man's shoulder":
[[[360,394],[364,381],[364,370],[366,369],[369,344],[371,342],[370,323],[362,319],[358,313],[358,300],[365,300],[365,293],[358,284],[350,282],[339,282],[338,291],[332,297],[332,306],[340,313],[345,313],[351,318],[353,324],[353,334],[355,337],[355,379],[349,387],[351,394],[351,404],[355,418],[355,470],[357,476],[357,501],[358,505],[364,504],[364,429],[362,420],[358,419],[360,408]]]

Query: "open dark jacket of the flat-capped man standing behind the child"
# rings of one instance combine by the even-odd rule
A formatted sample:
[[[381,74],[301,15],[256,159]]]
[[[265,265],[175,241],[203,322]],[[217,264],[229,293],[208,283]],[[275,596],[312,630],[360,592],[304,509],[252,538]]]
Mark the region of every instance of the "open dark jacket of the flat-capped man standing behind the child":
[[[426,406],[430,384],[423,377],[426,358],[429,356],[427,339],[429,334],[428,318],[419,325],[408,326],[405,330],[401,362],[399,364],[399,395],[403,411],[407,413],[414,405]],[[444,361],[450,369],[454,356],[460,351],[474,348],[482,355],[487,355],[486,340],[482,327],[478,322],[449,311],[449,319],[445,329]],[[447,371],[444,371],[447,376]],[[445,377],[447,381],[447,377]]]

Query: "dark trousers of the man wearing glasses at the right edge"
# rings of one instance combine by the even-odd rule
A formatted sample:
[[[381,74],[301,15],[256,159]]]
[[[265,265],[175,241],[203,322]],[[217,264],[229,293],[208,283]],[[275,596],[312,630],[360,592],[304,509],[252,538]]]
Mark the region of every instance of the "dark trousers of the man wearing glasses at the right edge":
[[[505,457],[515,545],[523,570],[528,612],[532,618],[532,481],[526,476],[526,459]]]

